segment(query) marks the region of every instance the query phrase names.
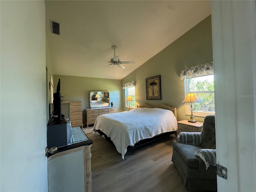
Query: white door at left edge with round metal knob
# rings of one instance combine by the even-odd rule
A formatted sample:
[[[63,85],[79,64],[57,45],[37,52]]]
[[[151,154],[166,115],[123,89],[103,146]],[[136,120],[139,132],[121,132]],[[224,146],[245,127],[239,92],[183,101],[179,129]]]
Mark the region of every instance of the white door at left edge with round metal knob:
[[[47,192],[44,1],[0,1],[0,191]]]

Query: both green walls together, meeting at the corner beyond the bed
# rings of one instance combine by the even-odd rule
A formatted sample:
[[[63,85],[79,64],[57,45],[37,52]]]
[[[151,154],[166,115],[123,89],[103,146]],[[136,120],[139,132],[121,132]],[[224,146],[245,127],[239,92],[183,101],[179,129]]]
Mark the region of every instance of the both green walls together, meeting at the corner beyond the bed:
[[[177,108],[178,120],[189,119],[189,115],[185,114],[185,104],[182,103],[185,95],[180,70],[212,61],[212,23],[211,16],[208,16],[122,80],[113,82],[111,79],[54,75],[54,89],[60,78],[63,101],[82,100],[84,124],[84,110],[90,108],[90,91],[110,92],[110,102],[121,112],[128,110],[122,85],[132,81],[136,82],[136,105],[146,103],[156,106],[163,103]],[[157,75],[161,76],[162,99],[146,100],[146,78]],[[203,122],[204,117],[196,116],[195,119]]]

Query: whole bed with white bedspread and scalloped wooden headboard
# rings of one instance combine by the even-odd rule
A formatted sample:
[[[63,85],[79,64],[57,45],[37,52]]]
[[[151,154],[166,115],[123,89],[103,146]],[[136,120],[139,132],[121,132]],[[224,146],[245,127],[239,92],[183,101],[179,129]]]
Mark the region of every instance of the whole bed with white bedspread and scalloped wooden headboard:
[[[142,104],[128,112],[103,114],[97,117],[93,130],[112,143],[122,155],[151,138],[176,134],[176,108],[164,104]]]

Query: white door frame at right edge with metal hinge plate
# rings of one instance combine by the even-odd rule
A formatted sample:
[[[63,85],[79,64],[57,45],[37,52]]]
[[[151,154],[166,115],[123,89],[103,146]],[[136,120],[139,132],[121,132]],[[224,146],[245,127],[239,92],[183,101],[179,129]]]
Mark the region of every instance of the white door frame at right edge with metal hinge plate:
[[[255,1],[212,1],[218,192],[256,191],[255,21]]]

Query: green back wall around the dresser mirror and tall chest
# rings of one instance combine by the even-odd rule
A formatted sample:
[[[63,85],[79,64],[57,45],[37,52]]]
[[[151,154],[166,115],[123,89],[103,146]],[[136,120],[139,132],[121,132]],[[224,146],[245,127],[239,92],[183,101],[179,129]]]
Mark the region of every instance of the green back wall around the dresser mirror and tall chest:
[[[82,101],[83,124],[86,124],[85,109],[90,108],[90,91],[108,91],[113,107],[117,108],[117,112],[122,111],[121,80],[54,75],[55,90],[59,79],[63,101]]]

